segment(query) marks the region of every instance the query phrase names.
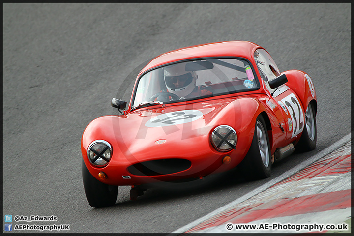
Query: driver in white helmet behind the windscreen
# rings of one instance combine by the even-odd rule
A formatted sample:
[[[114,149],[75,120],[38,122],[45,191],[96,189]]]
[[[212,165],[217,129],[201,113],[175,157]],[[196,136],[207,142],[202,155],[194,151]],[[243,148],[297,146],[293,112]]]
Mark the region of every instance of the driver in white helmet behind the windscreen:
[[[198,75],[195,71],[186,71],[185,63],[178,63],[164,68],[164,79],[168,92],[180,99],[212,95],[207,89],[196,86]]]

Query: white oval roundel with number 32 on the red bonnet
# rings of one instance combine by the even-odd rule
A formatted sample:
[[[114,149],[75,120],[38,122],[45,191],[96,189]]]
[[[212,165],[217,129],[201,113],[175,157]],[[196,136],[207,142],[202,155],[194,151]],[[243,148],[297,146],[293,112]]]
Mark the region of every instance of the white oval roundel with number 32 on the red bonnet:
[[[145,126],[159,127],[159,126],[177,125],[177,124],[192,122],[201,117],[203,117],[203,113],[197,110],[169,112],[151,118],[148,122],[146,122]]]

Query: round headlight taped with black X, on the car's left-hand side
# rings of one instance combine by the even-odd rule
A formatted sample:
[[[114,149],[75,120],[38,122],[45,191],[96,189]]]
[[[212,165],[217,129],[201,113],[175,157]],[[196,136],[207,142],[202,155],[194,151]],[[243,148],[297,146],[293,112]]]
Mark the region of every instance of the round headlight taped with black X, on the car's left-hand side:
[[[89,161],[98,167],[103,167],[111,160],[111,145],[104,140],[93,141],[87,149]]]

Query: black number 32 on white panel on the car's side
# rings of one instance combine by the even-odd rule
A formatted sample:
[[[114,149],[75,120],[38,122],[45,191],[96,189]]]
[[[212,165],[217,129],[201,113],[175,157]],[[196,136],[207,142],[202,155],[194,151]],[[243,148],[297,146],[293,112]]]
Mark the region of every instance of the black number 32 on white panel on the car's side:
[[[292,133],[292,138],[293,138],[294,136],[301,133],[304,128],[303,111],[294,93],[283,98],[281,101],[287,106],[288,110],[291,111],[290,114],[293,121],[293,133]]]

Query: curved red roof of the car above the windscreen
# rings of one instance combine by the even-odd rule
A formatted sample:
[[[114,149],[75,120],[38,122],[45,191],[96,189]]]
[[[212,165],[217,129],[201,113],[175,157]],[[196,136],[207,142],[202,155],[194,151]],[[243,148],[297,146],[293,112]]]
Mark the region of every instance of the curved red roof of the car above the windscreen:
[[[161,54],[160,56],[152,59],[139,73],[139,76],[154,67],[186,59],[206,57],[242,57],[252,61],[253,51],[256,48],[261,47],[248,41],[216,42],[180,48]]]

